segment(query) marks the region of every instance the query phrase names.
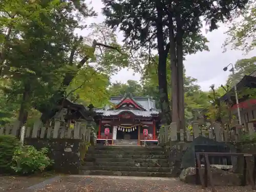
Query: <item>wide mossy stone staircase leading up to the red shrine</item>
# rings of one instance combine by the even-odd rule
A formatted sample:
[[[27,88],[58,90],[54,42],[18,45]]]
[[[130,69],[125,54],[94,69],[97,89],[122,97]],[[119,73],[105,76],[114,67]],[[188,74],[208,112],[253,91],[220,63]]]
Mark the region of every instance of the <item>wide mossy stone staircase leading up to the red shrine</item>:
[[[89,147],[81,163],[82,175],[172,177],[164,149],[159,146]]]

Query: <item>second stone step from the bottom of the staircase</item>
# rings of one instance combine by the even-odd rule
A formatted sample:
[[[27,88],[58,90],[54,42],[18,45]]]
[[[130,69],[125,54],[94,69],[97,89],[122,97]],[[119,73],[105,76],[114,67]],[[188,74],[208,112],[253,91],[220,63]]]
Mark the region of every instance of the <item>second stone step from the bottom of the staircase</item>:
[[[81,170],[112,170],[113,172],[160,172],[170,173],[169,167],[140,167],[140,166],[82,166]]]

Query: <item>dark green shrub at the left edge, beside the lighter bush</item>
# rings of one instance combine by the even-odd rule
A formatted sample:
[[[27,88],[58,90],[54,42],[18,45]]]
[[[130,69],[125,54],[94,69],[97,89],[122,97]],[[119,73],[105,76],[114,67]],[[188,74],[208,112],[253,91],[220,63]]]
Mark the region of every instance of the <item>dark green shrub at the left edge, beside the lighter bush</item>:
[[[10,173],[15,148],[20,146],[19,140],[13,135],[0,135],[0,172]]]

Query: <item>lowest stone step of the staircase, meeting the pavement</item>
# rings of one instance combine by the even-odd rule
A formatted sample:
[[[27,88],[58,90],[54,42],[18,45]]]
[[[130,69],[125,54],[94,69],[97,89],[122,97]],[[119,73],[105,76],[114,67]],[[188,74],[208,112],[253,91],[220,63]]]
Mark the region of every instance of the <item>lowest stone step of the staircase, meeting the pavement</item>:
[[[107,175],[132,177],[173,177],[171,173],[159,172],[113,172],[110,170],[80,170],[80,175]]]

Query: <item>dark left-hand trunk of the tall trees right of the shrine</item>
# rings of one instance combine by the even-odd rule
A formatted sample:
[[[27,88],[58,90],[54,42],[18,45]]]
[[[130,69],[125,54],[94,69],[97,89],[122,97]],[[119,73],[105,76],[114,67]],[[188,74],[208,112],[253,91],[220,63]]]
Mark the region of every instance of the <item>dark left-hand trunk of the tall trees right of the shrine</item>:
[[[160,1],[156,1],[157,7],[157,43],[158,43],[158,89],[160,96],[160,106],[163,114],[162,123],[170,124],[172,116],[170,112],[170,104],[167,91],[167,77],[166,77],[166,59],[169,50],[169,44],[164,43],[163,38],[163,9]]]

